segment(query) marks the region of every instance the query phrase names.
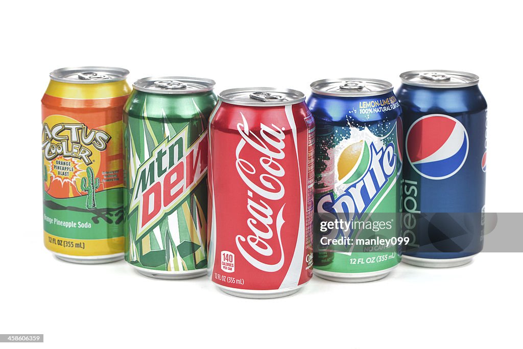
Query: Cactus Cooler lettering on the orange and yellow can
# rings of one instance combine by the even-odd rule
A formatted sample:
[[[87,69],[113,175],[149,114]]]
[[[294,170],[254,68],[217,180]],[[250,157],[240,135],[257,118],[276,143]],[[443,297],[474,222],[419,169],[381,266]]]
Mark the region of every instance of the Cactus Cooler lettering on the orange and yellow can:
[[[56,156],[81,159],[86,165],[93,163],[93,152],[87,147],[104,151],[111,136],[105,131],[90,129],[83,123],[58,123],[49,127],[47,122],[42,125],[43,155],[51,161]]]

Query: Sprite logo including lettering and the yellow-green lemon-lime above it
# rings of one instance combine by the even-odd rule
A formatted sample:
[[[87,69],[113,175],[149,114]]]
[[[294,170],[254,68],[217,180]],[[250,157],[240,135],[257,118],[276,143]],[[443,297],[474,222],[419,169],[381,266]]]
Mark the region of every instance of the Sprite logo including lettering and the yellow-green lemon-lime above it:
[[[383,137],[376,136],[367,128],[351,127],[350,137],[338,142],[332,150],[334,187],[317,199],[316,211],[334,213],[337,219],[345,222],[353,222],[363,213],[371,213],[397,179],[398,165],[401,166],[401,157],[397,155],[400,147],[395,127],[391,127]],[[381,210],[386,211],[386,208]],[[344,230],[336,229],[331,232],[336,235],[332,238],[350,237],[353,228],[350,224],[346,235]]]

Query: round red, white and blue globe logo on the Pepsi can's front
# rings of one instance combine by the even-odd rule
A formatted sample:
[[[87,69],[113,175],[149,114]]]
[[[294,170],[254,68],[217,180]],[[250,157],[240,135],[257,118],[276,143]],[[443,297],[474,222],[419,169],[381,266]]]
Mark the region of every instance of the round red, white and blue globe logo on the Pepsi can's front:
[[[408,162],[425,178],[445,179],[456,174],[467,160],[469,136],[458,120],[440,114],[416,120],[407,131]]]

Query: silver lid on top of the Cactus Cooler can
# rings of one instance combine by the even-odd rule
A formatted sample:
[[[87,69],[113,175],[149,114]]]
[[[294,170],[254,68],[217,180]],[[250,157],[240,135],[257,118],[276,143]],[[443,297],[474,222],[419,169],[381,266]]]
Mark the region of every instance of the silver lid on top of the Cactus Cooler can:
[[[78,66],[53,70],[49,77],[53,81],[72,84],[103,84],[126,80],[129,71],[112,66]]]

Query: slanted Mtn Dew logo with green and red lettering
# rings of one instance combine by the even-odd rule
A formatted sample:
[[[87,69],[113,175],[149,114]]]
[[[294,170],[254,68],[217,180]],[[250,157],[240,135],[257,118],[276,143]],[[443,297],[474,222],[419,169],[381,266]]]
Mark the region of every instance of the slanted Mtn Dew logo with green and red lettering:
[[[207,131],[191,145],[187,127],[164,141],[140,165],[129,212],[138,207],[137,239],[168,215],[207,173]]]

